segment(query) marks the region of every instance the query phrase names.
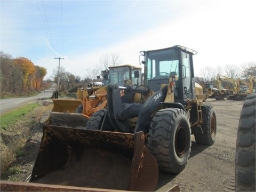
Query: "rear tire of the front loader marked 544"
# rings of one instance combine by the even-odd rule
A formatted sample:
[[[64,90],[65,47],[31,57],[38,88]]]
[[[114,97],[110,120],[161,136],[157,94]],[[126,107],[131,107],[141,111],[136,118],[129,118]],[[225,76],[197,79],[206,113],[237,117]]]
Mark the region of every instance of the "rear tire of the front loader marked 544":
[[[217,120],[215,109],[212,105],[202,105],[203,133],[195,134],[196,143],[211,146],[216,139]]]

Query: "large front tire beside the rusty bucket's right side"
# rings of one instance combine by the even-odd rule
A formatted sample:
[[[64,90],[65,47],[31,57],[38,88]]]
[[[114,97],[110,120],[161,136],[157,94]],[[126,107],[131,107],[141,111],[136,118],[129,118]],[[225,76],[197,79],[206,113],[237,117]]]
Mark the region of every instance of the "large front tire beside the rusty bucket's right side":
[[[166,108],[157,111],[150,123],[147,148],[160,170],[180,173],[191,150],[191,130],[186,111]]]

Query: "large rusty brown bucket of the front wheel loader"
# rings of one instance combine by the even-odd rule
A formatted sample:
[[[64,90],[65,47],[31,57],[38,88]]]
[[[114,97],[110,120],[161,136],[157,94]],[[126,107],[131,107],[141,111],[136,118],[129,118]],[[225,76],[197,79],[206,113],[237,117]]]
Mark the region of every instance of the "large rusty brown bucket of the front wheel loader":
[[[135,134],[45,124],[30,182],[47,185],[154,191],[156,159]]]

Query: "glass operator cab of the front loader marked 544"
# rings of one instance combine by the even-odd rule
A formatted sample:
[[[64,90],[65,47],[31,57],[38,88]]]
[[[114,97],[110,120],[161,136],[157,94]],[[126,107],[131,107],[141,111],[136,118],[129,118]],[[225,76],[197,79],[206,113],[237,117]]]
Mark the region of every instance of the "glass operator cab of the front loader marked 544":
[[[154,51],[141,51],[145,64],[145,82],[154,92],[162,84],[169,84],[169,77],[175,76],[174,101],[195,99],[195,78],[192,56],[197,52],[183,46],[173,46]]]

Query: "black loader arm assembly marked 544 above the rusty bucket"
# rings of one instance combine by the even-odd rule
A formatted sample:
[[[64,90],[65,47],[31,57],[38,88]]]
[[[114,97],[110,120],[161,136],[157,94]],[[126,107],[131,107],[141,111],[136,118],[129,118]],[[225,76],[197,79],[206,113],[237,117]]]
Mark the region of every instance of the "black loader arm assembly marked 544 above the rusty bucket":
[[[134,92],[144,93],[141,89],[134,89]],[[128,119],[139,117],[136,131],[148,132],[150,116],[161,106],[167,95],[167,85],[162,90],[151,95],[145,103],[123,103],[120,97],[120,90],[117,84],[108,85],[108,117],[111,124],[118,132],[133,133],[129,127]]]

